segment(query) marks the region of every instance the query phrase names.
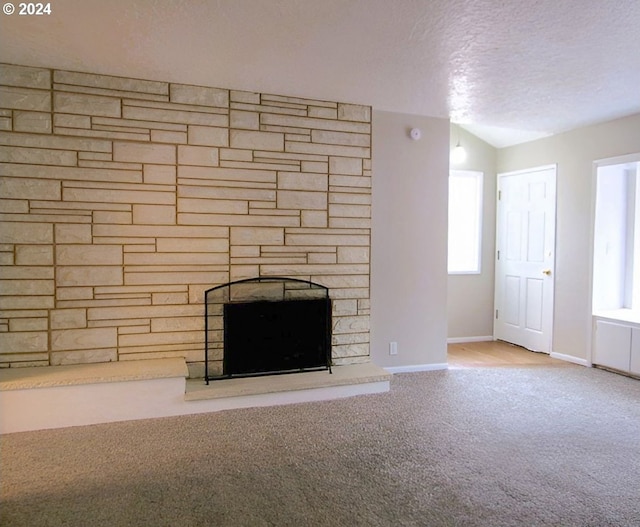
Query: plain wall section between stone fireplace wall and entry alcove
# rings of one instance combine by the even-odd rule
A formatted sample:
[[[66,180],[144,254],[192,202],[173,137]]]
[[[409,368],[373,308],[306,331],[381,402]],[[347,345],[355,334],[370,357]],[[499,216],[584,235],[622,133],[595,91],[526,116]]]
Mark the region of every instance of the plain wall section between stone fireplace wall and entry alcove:
[[[437,367],[447,354],[449,122],[374,111],[372,140],[371,357]]]

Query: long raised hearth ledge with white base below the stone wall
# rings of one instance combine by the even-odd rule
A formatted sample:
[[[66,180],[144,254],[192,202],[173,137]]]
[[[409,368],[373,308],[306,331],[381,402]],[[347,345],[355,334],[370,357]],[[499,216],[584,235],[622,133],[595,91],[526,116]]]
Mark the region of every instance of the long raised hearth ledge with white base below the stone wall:
[[[336,399],[386,392],[391,379],[372,363],[209,386],[186,376],[177,358],[0,370],[0,433]]]

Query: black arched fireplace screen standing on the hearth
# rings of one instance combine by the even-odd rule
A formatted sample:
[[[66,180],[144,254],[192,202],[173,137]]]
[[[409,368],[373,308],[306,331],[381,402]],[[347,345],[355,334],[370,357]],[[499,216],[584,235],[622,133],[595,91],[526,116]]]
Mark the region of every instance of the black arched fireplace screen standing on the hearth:
[[[307,280],[259,277],[205,291],[205,381],[331,370],[331,299]]]

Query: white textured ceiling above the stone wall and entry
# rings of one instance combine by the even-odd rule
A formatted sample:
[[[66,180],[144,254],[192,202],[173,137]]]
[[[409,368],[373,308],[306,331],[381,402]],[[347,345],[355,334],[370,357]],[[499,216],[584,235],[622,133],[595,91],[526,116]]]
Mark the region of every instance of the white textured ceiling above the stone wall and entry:
[[[639,0],[53,0],[51,10],[0,15],[0,61],[450,117],[497,147],[640,112]]]

